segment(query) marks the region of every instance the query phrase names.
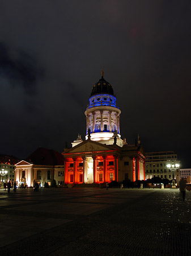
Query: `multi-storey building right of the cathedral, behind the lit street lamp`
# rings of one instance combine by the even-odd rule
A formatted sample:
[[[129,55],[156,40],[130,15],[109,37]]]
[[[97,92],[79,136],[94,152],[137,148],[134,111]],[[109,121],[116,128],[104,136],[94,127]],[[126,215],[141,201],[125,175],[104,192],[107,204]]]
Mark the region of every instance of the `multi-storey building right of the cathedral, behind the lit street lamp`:
[[[162,179],[172,180],[172,172],[168,170],[167,164],[172,161],[180,164],[174,151],[146,152],[145,159],[145,177],[160,177]],[[180,180],[180,168],[175,171],[175,179]]]

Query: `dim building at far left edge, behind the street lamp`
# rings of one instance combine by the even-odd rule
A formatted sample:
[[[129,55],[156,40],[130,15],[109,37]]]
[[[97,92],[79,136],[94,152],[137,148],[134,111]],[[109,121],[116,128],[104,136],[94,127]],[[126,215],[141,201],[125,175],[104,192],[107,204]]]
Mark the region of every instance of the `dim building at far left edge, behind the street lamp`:
[[[0,155],[0,171],[7,171],[7,174],[2,176],[0,174],[1,182],[7,182],[11,180],[11,183],[15,178],[15,164],[19,162],[19,159],[15,156]]]

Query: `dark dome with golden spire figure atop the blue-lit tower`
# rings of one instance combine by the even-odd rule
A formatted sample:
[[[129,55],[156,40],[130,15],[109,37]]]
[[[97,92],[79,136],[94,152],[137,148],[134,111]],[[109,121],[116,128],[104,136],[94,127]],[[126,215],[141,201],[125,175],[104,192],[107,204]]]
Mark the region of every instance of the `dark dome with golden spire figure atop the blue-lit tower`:
[[[98,82],[96,82],[96,84],[93,86],[91,96],[95,94],[100,94],[100,93],[105,93],[105,94],[110,94],[115,96],[111,84],[109,84],[109,82],[107,82],[104,79],[103,72],[102,72],[101,79]]]

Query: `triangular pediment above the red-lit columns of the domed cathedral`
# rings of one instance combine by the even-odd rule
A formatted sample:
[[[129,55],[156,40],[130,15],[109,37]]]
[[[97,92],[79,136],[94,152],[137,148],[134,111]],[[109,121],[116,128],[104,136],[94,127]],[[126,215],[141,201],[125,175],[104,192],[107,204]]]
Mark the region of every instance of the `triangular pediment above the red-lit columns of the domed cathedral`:
[[[77,146],[70,148],[63,154],[67,153],[77,153],[77,152],[94,152],[94,151],[105,151],[113,150],[113,147],[101,144],[99,142],[86,140],[82,143],[79,143]]]

